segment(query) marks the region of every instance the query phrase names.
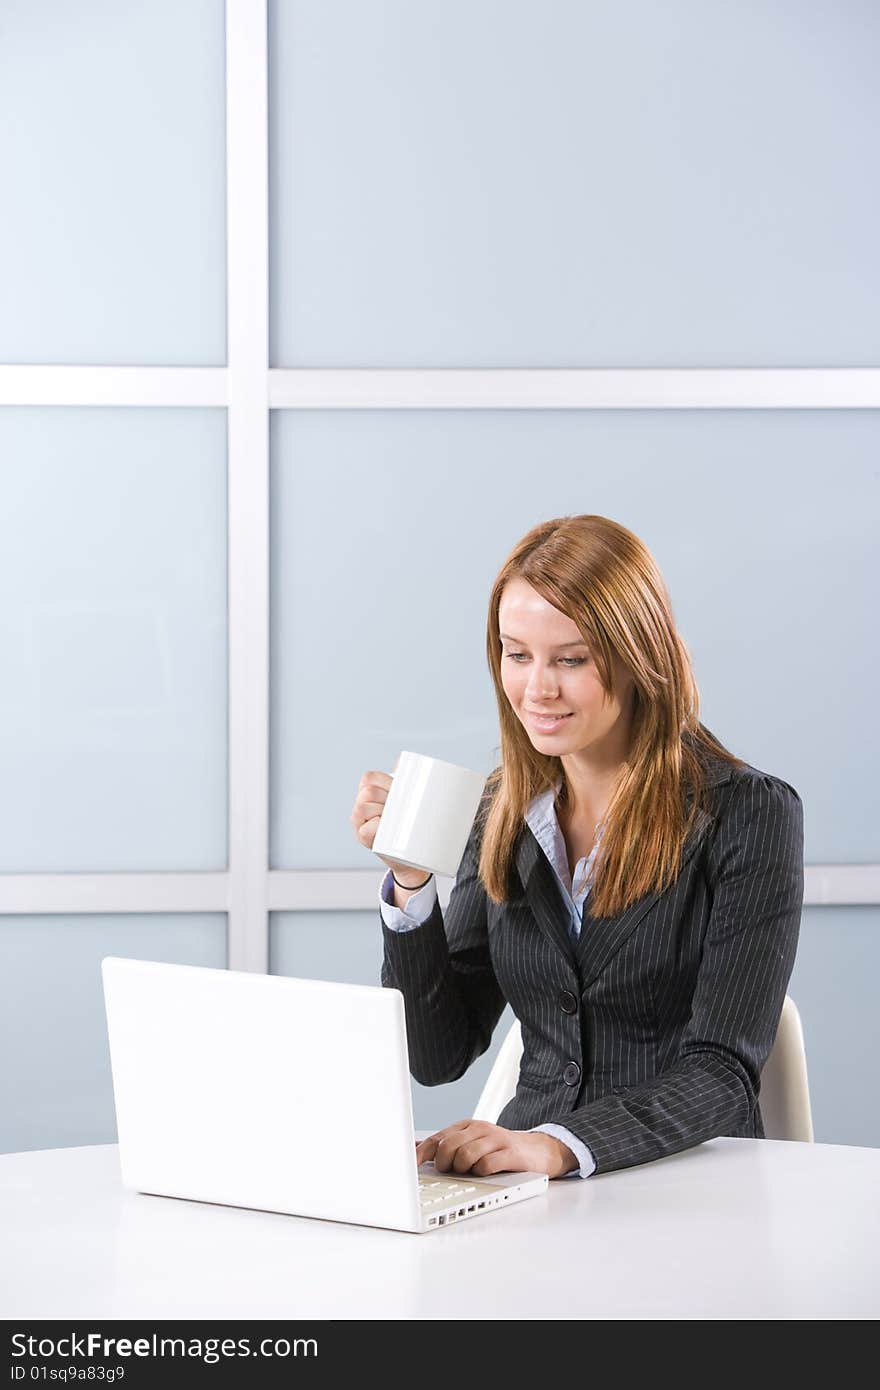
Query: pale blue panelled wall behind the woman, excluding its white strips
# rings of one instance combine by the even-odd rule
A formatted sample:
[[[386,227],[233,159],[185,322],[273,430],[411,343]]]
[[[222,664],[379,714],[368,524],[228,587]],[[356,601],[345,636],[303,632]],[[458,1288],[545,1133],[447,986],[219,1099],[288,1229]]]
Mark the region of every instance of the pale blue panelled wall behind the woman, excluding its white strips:
[[[879,364],[873,6],[268,15],[274,366]],[[224,64],[221,0],[3,6],[0,363],[224,363]],[[225,866],[225,436],[0,409],[0,873]],[[272,867],[367,867],[356,781],[400,746],[492,764],[488,588],[564,512],[655,553],[703,719],[798,788],[808,863],[880,860],[880,411],[277,411],[271,441]],[[380,949],[375,913],[272,919],[279,973],[377,983]],[[222,965],[225,923],[0,916],[0,1150],[113,1140],[107,954]],[[820,1140],[880,1144],[879,973],[880,906],[805,909]],[[416,1123],[491,1056],[414,1086]]]

